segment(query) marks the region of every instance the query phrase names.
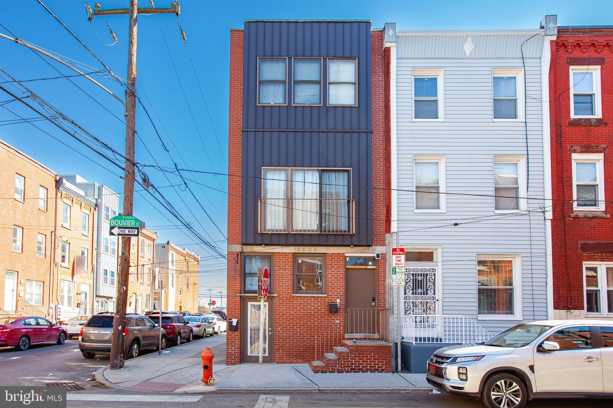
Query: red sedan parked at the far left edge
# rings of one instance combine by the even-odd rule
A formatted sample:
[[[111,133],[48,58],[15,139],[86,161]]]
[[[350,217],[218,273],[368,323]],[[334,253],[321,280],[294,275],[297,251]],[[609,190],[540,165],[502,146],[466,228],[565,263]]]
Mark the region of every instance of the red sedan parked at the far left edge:
[[[15,346],[27,350],[31,344],[64,344],[68,332],[64,327],[53,324],[44,317],[21,316],[0,319],[0,347]]]

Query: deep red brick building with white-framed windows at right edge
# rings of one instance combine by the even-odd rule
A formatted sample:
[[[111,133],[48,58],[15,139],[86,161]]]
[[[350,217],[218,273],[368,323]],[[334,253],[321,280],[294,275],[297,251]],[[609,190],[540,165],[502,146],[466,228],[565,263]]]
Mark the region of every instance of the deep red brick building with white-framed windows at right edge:
[[[551,42],[554,318],[613,316],[613,26]]]

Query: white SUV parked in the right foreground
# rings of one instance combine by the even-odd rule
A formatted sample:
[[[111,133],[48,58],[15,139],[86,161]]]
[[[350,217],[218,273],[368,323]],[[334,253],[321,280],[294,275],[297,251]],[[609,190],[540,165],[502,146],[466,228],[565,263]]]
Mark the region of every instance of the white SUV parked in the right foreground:
[[[611,398],[613,321],[518,324],[481,344],[438,349],[427,364],[428,383],[489,408],[521,408],[534,398]]]

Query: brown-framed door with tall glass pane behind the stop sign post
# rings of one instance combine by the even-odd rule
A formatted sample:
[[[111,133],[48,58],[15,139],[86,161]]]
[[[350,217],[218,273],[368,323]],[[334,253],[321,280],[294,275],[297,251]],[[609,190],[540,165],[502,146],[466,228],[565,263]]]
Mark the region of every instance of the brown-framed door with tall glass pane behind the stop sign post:
[[[243,363],[259,362],[259,339],[260,339],[260,301],[257,296],[243,297],[242,300],[242,320],[241,342]],[[275,303],[272,297],[264,301],[264,347],[262,362],[274,363],[274,335],[275,327]]]

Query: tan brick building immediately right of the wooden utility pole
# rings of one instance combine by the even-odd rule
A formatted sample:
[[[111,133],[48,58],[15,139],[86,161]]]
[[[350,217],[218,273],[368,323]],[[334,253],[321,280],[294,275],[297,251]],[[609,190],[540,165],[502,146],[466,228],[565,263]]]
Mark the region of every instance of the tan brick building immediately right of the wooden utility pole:
[[[131,240],[128,311],[132,313],[145,313],[151,310],[155,287],[153,272],[156,239],[158,239],[156,232],[143,228],[140,230],[140,236]]]

